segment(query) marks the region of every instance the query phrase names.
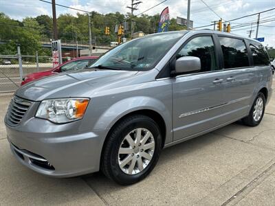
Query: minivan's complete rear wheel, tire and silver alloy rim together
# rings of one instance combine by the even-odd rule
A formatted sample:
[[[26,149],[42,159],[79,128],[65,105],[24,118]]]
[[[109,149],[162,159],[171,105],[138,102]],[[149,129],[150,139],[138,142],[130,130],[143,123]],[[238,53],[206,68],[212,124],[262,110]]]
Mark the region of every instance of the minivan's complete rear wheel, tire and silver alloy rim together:
[[[243,118],[244,124],[248,126],[257,126],[260,124],[263,119],[263,114],[265,113],[265,101],[265,95],[259,92],[250,109],[249,115]]]

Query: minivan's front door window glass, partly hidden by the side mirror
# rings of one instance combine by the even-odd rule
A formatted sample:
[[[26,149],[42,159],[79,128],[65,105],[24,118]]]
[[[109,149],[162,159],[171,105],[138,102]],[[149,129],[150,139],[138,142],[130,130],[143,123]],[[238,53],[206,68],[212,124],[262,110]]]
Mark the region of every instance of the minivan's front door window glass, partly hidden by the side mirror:
[[[177,58],[196,56],[201,60],[201,72],[217,69],[214,43],[211,36],[199,36],[190,40],[181,49]]]

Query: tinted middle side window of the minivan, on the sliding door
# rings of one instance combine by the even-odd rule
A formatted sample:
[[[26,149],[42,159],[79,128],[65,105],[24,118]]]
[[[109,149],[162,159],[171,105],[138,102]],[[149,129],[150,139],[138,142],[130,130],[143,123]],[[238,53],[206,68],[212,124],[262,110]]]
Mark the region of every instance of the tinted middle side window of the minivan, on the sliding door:
[[[219,37],[223,51],[224,68],[249,67],[248,50],[242,40]]]

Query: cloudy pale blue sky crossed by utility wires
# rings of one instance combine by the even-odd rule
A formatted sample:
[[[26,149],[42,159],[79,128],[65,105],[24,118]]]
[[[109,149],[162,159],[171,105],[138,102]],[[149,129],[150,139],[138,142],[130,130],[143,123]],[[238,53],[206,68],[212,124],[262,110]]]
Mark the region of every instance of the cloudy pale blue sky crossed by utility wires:
[[[162,1],[163,0],[143,1],[138,5],[138,10],[135,11],[134,14],[144,12],[148,8],[151,8]],[[212,10],[210,10],[210,8],[208,8],[203,1]],[[190,19],[194,21],[194,27],[209,25],[212,21],[218,21],[220,17],[225,21],[229,21],[230,19],[235,19],[240,16],[275,8],[275,0],[190,0],[190,2]],[[96,11],[102,14],[117,11],[122,14],[126,14],[126,12],[130,12],[129,8],[126,8],[126,6],[131,4],[131,0],[56,0],[56,3],[67,5],[72,8]],[[177,16],[186,18],[187,0],[168,0],[155,8],[148,10],[144,14],[153,15],[160,13],[164,8],[166,8],[166,6],[169,8],[170,18],[176,18]],[[0,12],[4,12],[12,19],[18,20],[22,20],[26,16],[35,17],[41,14],[52,16],[52,5],[39,0],[0,0]],[[57,15],[65,13],[76,15],[77,11],[61,8],[56,5]],[[239,25],[240,23],[257,21],[257,18],[258,16],[255,15],[236,21],[231,21],[232,33],[239,34],[241,36],[248,36],[248,30],[251,30],[251,26],[239,27],[235,29],[234,26]],[[261,14],[260,21],[265,21],[268,19],[274,20],[266,23],[260,23],[258,37],[265,37],[263,45],[275,47],[275,10]],[[205,28],[212,29],[213,26]],[[252,38],[255,38],[256,25],[252,25],[252,30],[254,30],[252,32]]]

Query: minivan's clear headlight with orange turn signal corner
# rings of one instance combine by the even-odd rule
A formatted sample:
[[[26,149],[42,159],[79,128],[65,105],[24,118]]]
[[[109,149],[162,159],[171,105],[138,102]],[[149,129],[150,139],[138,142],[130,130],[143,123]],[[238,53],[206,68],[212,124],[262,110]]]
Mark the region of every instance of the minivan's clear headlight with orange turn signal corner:
[[[82,119],[88,103],[87,98],[43,100],[35,116],[55,123],[72,122]]]

